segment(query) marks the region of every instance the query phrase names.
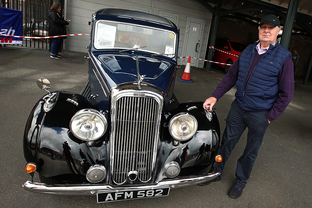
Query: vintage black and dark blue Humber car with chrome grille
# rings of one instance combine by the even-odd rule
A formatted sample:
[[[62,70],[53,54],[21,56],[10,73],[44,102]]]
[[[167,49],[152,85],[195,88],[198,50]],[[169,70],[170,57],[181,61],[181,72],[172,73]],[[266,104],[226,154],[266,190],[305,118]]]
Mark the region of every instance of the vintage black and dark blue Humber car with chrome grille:
[[[80,94],[48,91],[24,134],[28,191],[98,202],[167,196],[213,180],[220,127],[201,101],[173,94],[179,30],[166,18],[101,9],[90,24],[89,79]],[[102,44],[103,40],[107,44]],[[34,173],[40,182],[34,182]]]

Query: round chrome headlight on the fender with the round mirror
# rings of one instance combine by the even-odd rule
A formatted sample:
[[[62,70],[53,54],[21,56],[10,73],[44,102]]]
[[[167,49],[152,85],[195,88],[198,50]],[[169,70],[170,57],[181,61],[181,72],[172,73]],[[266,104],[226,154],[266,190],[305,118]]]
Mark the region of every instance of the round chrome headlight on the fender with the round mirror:
[[[93,141],[106,132],[107,120],[103,114],[94,109],[78,111],[69,124],[71,132],[85,141]]]

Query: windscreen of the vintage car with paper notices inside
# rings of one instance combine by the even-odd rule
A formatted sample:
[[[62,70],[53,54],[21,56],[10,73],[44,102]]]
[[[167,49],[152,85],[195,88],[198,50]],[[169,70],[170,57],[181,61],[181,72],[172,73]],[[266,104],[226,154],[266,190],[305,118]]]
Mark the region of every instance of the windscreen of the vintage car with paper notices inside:
[[[176,40],[177,35],[172,31],[124,22],[98,21],[94,46],[96,49],[146,46],[140,50],[173,57],[176,53]]]

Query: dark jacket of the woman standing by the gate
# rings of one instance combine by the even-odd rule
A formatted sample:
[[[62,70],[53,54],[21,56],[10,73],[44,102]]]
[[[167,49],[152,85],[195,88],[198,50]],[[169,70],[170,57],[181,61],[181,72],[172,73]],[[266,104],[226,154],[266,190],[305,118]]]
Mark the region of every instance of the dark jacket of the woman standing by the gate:
[[[66,27],[69,23],[64,20],[55,10],[50,10],[47,14],[46,20],[49,22],[48,35],[58,36],[66,35]],[[66,37],[61,37],[66,38]]]

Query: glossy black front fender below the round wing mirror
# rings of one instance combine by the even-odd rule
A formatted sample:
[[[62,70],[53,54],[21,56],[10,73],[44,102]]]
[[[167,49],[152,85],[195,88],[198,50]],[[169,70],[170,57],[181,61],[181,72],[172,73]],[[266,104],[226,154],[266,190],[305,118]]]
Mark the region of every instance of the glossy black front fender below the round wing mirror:
[[[80,94],[65,91],[51,94],[37,102],[28,118],[23,144],[25,159],[35,162],[37,172],[46,177],[85,174],[95,164],[96,154],[106,155],[106,151],[103,153],[97,148],[105,146],[106,150],[105,135],[99,139],[101,142],[95,141],[91,147],[71,133],[69,123],[77,111],[96,108]],[[45,104],[51,96],[57,97],[57,100],[46,112]]]

